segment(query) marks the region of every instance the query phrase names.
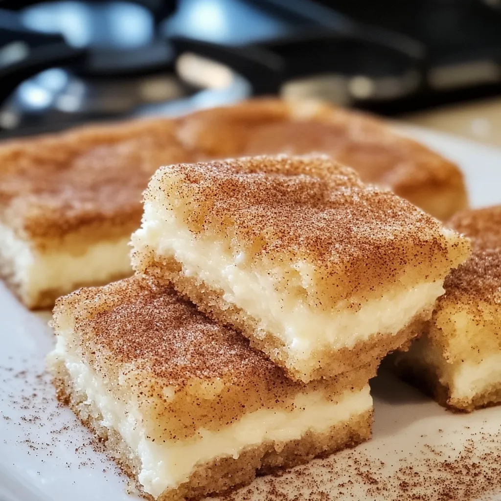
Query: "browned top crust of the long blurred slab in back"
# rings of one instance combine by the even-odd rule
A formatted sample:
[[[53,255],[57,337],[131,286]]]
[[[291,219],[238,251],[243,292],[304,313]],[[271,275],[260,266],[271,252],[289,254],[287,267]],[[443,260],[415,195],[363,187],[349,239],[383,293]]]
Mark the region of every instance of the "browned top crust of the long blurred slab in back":
[[[453,164],[376,119],[326,105],[257,99],[178,120],[87,126],[6,142],[0,147],[0,217],[46,245],[76,231],[89,241],[101,224],[115,232],[139,224],[141,191],[161,164],[281,151],[333,154],[363,180],[387,185],[425,210],[440,193],[431,211],[438,217],[465,205]]]

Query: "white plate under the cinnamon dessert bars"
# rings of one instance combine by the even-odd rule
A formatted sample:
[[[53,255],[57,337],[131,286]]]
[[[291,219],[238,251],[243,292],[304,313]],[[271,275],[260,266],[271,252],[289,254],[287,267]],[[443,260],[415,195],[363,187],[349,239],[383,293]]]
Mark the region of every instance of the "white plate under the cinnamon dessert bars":
[[[422,129],[405,131],[461,166],[472,206],[501,202],[501,150]],[[90,433],[58,407],[48,378],[40,376],[53,342],[48,318],[26,311],[0,285],[0,499],[135,499],[114,464],[89,445]],[[280,478],[258,479],[232,497],[390,500],[421,493],[423,501],[466,501],[485,492],[501,499],[501,407],[452,414],[387,375],[378,376],[373,389],[371,441]],[[496,483],[498,496],[489,489]]]

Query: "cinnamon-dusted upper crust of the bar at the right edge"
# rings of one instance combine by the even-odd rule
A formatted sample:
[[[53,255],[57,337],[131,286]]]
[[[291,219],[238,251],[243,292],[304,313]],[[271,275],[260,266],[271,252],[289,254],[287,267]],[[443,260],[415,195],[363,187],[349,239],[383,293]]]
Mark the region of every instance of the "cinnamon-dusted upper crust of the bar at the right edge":
[[[471,238],[472,254],[444,281],[429,336],[449,363],[501,351],[501,206],[459,212],[449,225]]]

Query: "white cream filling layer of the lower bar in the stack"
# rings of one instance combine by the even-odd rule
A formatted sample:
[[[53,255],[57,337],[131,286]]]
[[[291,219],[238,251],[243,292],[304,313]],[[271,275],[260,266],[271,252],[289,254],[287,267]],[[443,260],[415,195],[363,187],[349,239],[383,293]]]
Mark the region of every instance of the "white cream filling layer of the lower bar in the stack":
[[[100,410],[102,424],[118,431],[139,456],[139,482],[154,497],[166,488],[176,488],[187,481],[196,465],[213,458],[238,458],[244,448],[264,441],[294,440],[308,430],[327,431],[372,409],[369,385],[360,391],[347,391],[338,402],[326,400],[319,392],[311,392],[297,397],[293,411],[261,409],[217,432],[200,429],[194,439],[154,443],[146,438],[138,410],[131,403],[115,399],[96,372],[78,356],[69,353],[61,334],[52,358],[64,361],[75,390],[87,394],[87,402],[94,403]]]

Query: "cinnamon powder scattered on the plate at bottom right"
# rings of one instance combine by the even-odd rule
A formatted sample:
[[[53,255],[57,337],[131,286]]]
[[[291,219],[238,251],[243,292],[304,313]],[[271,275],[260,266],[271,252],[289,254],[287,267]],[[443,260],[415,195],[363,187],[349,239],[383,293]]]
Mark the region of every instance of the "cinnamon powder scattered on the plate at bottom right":
[[[465,430],[469,427],[465,426]],[[501,489],[501,431],[466,432],[461,450],[425,444],[396,463],[362,447],[267,476],[222,497],[224,501],[448,501],[494,499]],[[430,454],[431,452],[431,454]]]

